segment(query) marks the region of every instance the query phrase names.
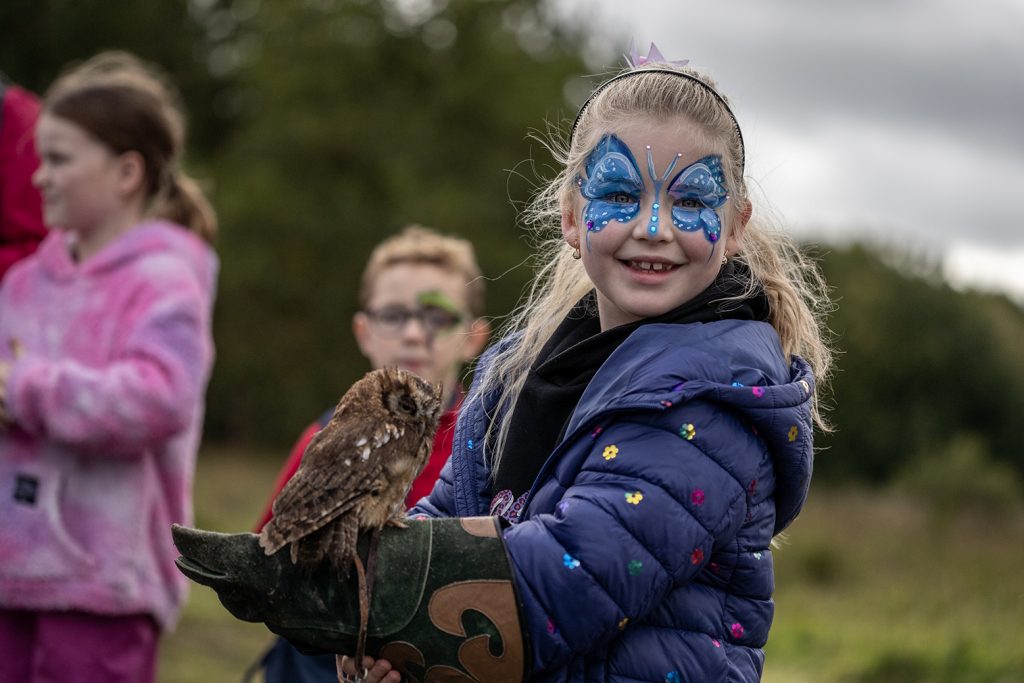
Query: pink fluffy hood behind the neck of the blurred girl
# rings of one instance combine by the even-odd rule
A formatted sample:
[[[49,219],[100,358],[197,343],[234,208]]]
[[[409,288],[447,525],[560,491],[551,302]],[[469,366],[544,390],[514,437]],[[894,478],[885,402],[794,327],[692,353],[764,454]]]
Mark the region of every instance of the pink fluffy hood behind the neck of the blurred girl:
[[[213,291],[218,261],[213,249],[185,227],[165,220],[140,223],[93,254],[84,263],[71,255],[72,236],[51,230],[39,247],[46,274],[58,282],[90,278],[115,270],[150,254],[173,254],[194,271],[207,291]]]

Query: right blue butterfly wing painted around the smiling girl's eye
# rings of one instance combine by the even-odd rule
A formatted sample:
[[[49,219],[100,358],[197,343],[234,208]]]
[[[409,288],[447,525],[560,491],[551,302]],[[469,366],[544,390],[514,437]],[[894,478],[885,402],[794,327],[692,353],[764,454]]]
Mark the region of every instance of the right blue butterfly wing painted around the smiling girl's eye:
[[[729,199],[721,157],[709,155],[680,171],[669,185],[669,199],[673,225],[684,232],[703,230],[713,255],[722,237],[722,219],[716,209]]]

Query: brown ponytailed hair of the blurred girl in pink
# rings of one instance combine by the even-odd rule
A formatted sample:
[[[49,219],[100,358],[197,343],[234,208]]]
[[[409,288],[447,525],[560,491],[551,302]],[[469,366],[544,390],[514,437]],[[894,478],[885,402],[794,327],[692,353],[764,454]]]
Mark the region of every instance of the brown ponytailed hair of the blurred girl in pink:
[[[146,213],[213,243],[216,215],[179,164],[185,140],[180,98],[156,66],[128,52],[100,52],[57,78],[43,108],[117,154],[138,153],[145,166]]]

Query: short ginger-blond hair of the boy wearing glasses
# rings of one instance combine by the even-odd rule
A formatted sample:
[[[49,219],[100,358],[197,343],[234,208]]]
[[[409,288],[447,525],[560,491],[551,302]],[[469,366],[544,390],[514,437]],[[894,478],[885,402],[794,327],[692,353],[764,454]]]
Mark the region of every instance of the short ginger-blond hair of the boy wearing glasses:
[[[455,273],[466,283],[466,302],[473,317],[483,315],[483,276],[476,263],[473,245],[467,240],[440,234],[422,225],[409,225],[371,252],[362,270],[359,307],[366,308],[380,273],[401,264],[433,265]]]

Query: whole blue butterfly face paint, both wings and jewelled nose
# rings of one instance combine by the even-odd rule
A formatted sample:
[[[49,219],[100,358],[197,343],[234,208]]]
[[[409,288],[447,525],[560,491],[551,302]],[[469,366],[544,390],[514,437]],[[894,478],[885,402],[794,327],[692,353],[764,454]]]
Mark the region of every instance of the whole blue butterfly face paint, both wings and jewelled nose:
[[[660,223],[662,187],[682,155],[677,154],[665,171],[657,173],[651,146],[647,145],[646,151],[653,196],[647,233],[654,237]],[[577,178],[577,185],[588,200],[583,220],[587,226],[589,251],[592,232],[600,232],[612,220],[628,223],[637,217],[641,197],[647,187],[629,145],[610,133],[604,135],[587,157],[586,172],[586,178]],[[716,210],[729,199],[721,158],[709,155],[681,170],[669,183],[668,196],[672,202],[672,223],[684,232],[702,230],[714,254],[715,245],[722,236],[722,221]]]

